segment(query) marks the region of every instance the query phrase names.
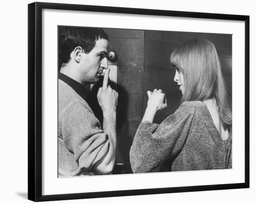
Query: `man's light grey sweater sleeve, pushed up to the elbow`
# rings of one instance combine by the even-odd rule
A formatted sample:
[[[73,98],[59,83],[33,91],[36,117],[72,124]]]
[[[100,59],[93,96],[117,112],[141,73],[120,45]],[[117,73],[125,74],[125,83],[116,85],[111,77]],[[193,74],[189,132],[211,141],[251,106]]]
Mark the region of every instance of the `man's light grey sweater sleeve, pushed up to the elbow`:
[[[108,135],[93,112],[72,101],[60,114],[60,136],[67,149],[74,153],[79,169],[91,169],[108,152]]]

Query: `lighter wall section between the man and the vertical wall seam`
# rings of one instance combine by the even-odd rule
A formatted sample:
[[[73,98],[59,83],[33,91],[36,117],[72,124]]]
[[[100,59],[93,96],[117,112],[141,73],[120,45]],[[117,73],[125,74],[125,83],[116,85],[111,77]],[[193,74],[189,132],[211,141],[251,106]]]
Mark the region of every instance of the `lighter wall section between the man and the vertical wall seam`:
[[[109,35],[109,50],[118,53],[117,69],[117,163],[125,163],[131,172],[129,150],[142,119],[144,31],[103,28]],[[118,172],[116,172],[118,173]]]

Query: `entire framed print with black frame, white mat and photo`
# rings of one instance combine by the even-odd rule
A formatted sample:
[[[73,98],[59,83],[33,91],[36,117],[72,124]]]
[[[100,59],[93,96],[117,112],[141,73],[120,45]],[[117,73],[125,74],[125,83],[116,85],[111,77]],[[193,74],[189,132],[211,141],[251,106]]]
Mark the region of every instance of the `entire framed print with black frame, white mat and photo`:
[[[249,188],[249,16],[29,4],[28,124],[33,201]]]

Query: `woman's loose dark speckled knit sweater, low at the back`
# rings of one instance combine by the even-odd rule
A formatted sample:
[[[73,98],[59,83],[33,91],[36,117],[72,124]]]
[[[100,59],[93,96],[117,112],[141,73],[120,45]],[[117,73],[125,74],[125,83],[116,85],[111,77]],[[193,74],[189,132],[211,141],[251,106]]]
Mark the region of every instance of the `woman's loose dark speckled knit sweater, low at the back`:
[[[231,133],[222,140],[207,106],[190,101],[160,125],[139,125],[130,162],[135,173],[232,168],[231,146]]]

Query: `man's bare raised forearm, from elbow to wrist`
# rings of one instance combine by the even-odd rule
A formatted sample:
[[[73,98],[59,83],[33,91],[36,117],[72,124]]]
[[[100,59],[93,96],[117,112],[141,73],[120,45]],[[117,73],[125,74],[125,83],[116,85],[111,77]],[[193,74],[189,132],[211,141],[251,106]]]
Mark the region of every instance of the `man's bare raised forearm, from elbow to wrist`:
[[[115,165],[116,151],[116,112],[103,112],[103,130],[108,135],[109,149],[106,155],[96,165],[101,174],[109,174]]]

